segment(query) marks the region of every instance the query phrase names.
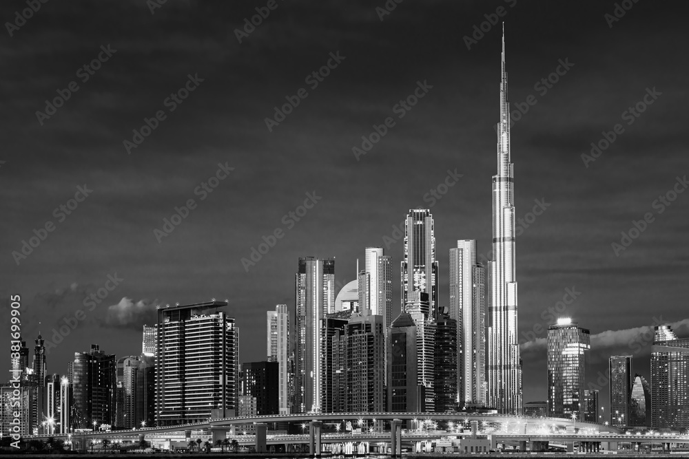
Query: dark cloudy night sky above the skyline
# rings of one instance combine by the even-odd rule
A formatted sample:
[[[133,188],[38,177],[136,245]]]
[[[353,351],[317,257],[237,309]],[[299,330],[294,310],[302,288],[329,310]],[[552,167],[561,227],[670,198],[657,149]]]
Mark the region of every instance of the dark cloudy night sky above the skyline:
[[[689,193],[662,213],[654,207],[689,172],[684,3],[633,3],[612,28],[613,1],[407,0],[383,21],[382,0],[344,3],[278,0],[242,43],[234,30],[265,1],[168,0],[154,14],[144,1],[54,1],[12,37],[5,25],[0,294],[21,295],[31,346],[39,330],[52,339],[64,318],[87,310],[51,350],[49,372],[64,373],[90,343],[138,354],[156,303],[212,297],[232,305],[240,360],[265,359],[265,311],[294,307],[298,257],[336,257],[337,281],[352,280],[364,246],[385,245],[393,225],[429,206],[424,194],[456,169],[463,177],[431,208],[446,303],[456,239],[477,239],[482,254],[491,248],[500,25],[471,50],[463,37],[502,7],[511,108],[530,94],[537,100],[512,129],[516,215],[535,200],[550,204],[517,233],[520,332],[548,325],[543,312],[574,288],[581,295],[563,314],[597,335],[590,380],[610,354],[633,354],[648,378],[650,340],[634,329],[658,317],[689,334]],[[0,18],[14,21],[23,8],[3,2]],[[101,45],[116,52],[84,82],[77,71]],[[311,89],[305,77],[331,52],[345,59]],[[560,59],[573,67],[545,92],[535,87]],[[203,82],[169,111],[165,99],[188,74]],[[36,112],[71,81],[79,90],[41,125]],[[398,118],[393,107],[417,81],[432,88]],[[302,87],[307,98],[269,132],[273,107]],[[628,125],[623,112],[654,87],[661,95]],[[123,140],[158,110],[165,120],[127,154]],[[357,161],[352,147],[388,116],[395,126]],[[582,153],[616,123],[624,132],[585,167]],[[226,162],[234,171],[202,200],[194,190]],[[54,213],[84,184],[88,198],[70,215]],[[283,215],[313,191],[322,199],[288,228]],[[196,209],[158,243],[154,229],[189,199]],[[654,220],[616,256],[611,244],[648,212]],[[54,231],[18,265],[12,252],[46,222]],[[285,237],[247,273],[240,259],[276,228]],[[402,242],[387,253],[398,308]],[[119,286],[84,308],[114,273]],[[523,346],[524,401],[546,399],[545,337]],[[9,365],[9,349],[0,365]]]

